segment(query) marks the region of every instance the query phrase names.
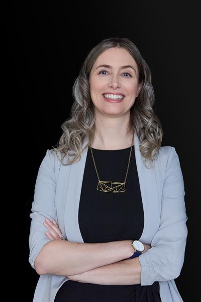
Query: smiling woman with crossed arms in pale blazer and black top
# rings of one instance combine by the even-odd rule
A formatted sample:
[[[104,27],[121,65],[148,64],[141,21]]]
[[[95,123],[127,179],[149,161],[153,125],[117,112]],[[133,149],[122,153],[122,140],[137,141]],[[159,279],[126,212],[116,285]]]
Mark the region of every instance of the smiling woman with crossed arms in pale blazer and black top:
[[[151,72],[134,43],[96,45],[73,96],[36,180],[34,301],[182,301],[183,177],[175,148],[161,147]]]

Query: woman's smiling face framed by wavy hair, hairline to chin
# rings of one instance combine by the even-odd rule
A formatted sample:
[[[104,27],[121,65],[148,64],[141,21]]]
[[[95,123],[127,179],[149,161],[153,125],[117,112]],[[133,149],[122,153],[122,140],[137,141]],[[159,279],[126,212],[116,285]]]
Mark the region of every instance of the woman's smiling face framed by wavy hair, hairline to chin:
[[[124,48],[109,48],[97,57],[89,84],[95,113],[106,116],[130,113],[141,89],[137,64]]]

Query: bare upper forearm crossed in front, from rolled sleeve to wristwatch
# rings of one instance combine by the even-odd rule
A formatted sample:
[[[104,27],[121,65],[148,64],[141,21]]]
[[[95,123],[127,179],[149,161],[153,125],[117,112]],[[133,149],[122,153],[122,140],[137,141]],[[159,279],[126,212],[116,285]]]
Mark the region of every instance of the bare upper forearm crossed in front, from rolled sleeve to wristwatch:
[[[132,256],[130,240],[76,243],[53,240],[40,251],[35,267],[39,274],[72,275]]]

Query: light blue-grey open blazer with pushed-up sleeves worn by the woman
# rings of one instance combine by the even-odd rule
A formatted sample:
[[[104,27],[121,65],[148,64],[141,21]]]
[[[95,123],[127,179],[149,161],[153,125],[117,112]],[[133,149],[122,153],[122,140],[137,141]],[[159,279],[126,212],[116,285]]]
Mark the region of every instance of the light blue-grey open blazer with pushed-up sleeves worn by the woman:
[[[83,146],[88,142],[85,138]],[[174,281],[180,274],[187,238],[184,183],[178,155],[174,147],[160,148],[154,168],[144,165],[139,139],[134,134],[134,148],[144,209],[144,230],[139,239],[152,246],[139,256],[142,266],[141,285],[159,281],[162,302],[183,301]],[[61,165],[57,156],[47,150],[39,168],[29,238],[29,262],[34,261],[50,240],[45,236],[45,217],[55,219],[65,239],[83,242],[78,208],[87,148],[74,164]],[[36,286],[34,302],[53,302],[66,276],[41,275]]]

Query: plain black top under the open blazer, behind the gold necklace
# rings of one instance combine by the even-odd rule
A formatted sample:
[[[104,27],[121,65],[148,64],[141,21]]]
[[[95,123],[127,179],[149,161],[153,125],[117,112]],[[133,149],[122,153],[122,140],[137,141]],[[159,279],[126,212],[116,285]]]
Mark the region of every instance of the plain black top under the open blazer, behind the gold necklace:
[[[124,182],[130,149],[131,147],[120,150],[92,148],[101,181]],[[84,243],[140,239],[144,228],[144,211],[134,152],[133,146],[126,191],[109,193],[96,189],[98,179],[88,148],[78,211]],[[161,302],[161,299],[158,282],[141,286],[100,285],[68,280],[56,294],[55,302],[59,301]]]

